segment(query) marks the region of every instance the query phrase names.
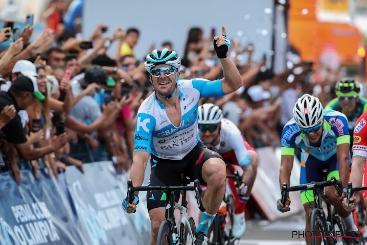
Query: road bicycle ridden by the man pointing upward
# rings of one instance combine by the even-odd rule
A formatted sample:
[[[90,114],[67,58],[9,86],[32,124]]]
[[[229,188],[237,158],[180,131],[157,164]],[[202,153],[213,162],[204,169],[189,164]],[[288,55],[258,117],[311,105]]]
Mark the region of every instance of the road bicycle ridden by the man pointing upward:
[[[193,186],[187,186],[191,182],[191,179],[183,175],[181,176],[182,186],[133,186],[131,179],[127,181],[127,199],[129,203],[133,202],[134,192],[136,191],[162,191],[166,194],[165,219],[158,231],[157,245],[194,245],[196,226],[194,219],[187,217],[188,201],[186,200],[186,191],[195,191],[195,198],[200,211],[205,212],[205,207],[201,200],[202,188],[199,180],[194,180]],[[181,205],[175,202],[174,191],[182,191]],[[177,225],[173,214],[175,209],[180,210],[181,215]]]

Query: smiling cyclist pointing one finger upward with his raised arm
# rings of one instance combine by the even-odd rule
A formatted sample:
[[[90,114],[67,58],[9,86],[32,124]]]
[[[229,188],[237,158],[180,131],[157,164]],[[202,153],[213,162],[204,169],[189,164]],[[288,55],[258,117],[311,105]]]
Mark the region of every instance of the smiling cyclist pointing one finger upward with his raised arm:
[[[151,163],[150,186],[180,185],[181,174],[199,179],[206,185],[203,213],[195,232],[195,245],[207,244],[207,230],[223,200],[226,183],[226,165],[222,157],[205,147],[197,133],[198,103],[202,97],[221,97],[236,91],[241,76],[227,57],[229,39],[226,29],[214,37],[214,49],[221,62],[224,78],[179,80],[181,59],[175,51],[153,50],[146,57],[145,68],[150,73],[155,92],[141,104],[135,129],[135,147],[130,179],[141,186],[148,160]],[[133,203],[126,198],[122,205],[133,213],[138,204],[138,193]],[[179,200],[180,192],[175,195]],[[151,245],[156,244],[157,233],[165,218],[165,195],[159,191],[147,193],[147,206],[152,225]]]

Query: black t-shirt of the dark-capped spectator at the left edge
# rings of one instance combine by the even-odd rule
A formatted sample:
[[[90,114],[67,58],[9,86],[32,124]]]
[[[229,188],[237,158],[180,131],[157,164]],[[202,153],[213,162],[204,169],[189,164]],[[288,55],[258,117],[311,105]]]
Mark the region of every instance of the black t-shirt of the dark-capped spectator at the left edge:
[[[2,133],[6,136],[7,141],[13,144],[23,144],[27,142],[23,131],[21,117],[19,116],[19,108],[14,96],[10,92],[0,93],[0,112],[6,105],[14,105],[16,114],[12,121],[7,123],[2,129]]]

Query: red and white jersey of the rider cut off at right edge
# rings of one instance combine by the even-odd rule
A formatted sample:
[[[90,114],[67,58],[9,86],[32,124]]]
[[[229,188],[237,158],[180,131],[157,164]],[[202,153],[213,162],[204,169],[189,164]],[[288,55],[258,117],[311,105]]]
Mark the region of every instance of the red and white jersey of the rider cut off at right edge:
[[[353,156],[367,157],[367,111],[359,117],[353,131]]]

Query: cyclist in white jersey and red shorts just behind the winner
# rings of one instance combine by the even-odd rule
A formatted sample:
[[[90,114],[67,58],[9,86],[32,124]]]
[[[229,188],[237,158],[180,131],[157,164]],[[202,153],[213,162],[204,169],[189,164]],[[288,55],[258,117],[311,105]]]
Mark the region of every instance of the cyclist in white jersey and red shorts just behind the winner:
[[[208,149],[218,152],[225,161],[241,166],[243,170],[243,183],[239,189],[235,187],[233,180],[228,180],[231,189],[234,190],[235,199],[233,236],[240,238],[246,229],[245,205],[256,177],[257,153],[246,142],[237,126],[223,118],[222,110],[214,104],[206,103],[199,106],[198,128],[200,140]],[[234,169],[230,167],[227,174],[233,174]]]

